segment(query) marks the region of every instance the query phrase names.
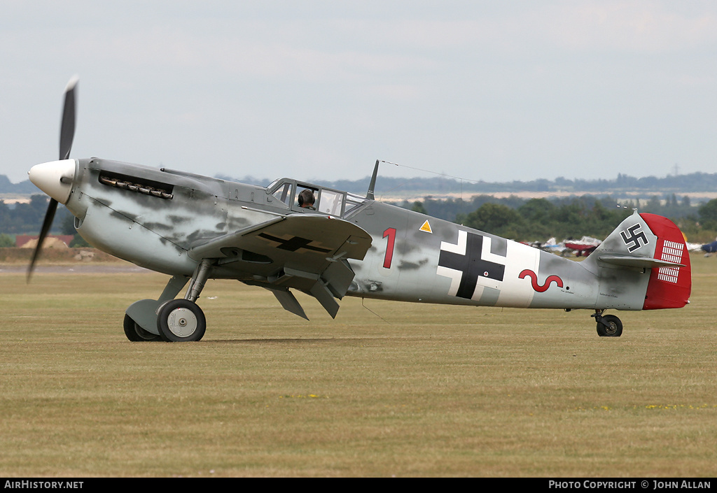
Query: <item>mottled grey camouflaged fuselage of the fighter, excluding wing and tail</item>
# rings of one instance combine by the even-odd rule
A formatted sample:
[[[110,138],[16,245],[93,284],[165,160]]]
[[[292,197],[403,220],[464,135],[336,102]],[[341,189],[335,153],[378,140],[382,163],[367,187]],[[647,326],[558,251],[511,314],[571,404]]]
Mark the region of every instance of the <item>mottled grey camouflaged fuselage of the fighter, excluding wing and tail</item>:
[[[407,302],[501,307],[640,310],[649,272],[599,269],[531,246],[389,204],[313,186],[316,211],[295,195],[305,183],[280,180],[267,188],[158,170],[99,158],[74,161],[62,201],[77,231],[93,246],[171,276],[191,276],[193,246],[277,216],[331,213],[371,235],[346,295]],[[55,192],[57,193],[57,192]],[[331,202],[329,202],[331,200]],[[327,209],[328,211],[328,209]],[[326,234],[331,234],[327,231]],[[216,279],[270,277],[270,252],[219,262]],[[266,259],[269,259],[267,261]]]

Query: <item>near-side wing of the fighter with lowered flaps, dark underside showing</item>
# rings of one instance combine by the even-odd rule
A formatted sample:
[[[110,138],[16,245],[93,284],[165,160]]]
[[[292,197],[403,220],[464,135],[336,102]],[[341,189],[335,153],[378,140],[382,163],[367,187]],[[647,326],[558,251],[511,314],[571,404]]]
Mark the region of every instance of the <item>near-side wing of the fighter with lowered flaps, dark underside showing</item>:
[[[251,274],[242,281],[269,289],[300,317],[307,318],[289,288],[312,295],[336,317],[334,298],[346,295],[354,275],[346,260],[364,259],[370,246],[371,235],[356,224],[291,214],[196,244],[189,257],[198,262],[217,259],[219,269]]]

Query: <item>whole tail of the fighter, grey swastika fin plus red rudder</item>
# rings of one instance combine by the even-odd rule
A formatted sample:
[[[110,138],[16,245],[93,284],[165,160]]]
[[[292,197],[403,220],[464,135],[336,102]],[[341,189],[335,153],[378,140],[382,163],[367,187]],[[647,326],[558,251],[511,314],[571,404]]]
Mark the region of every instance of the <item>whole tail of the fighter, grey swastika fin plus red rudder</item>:
[[[606,307],[656,310],[680,308],[689,302],[692,273],[685,237],[663,216],[635,212],[584,262],[596,268],[599,304]]]

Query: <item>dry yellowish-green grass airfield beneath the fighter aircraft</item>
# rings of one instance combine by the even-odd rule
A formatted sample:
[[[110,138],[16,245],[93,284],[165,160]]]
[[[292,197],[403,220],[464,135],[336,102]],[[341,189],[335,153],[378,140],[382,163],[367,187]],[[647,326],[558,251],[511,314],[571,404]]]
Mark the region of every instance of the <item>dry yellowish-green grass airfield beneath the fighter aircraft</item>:
[[[2,477],[714,477],[717,259],[691,304],[611,312],[346,297],[311,321],[210,281],[199,343],[130,343],[161,274],[0,272]]]

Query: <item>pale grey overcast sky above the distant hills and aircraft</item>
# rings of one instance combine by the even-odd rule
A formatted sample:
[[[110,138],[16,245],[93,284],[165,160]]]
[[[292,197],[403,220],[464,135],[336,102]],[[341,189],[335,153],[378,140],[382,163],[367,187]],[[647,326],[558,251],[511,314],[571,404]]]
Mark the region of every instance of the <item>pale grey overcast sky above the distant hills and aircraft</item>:
[[[72,157],[210,176],[717,172],[713,1],[0,0],[0,174]],[[414,176],[386,167],[386,174]]]

